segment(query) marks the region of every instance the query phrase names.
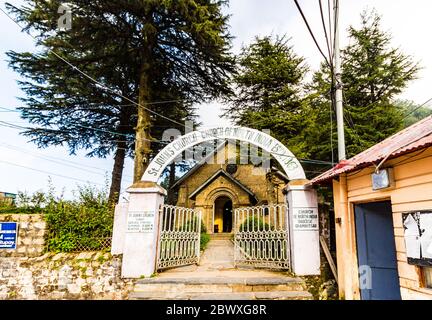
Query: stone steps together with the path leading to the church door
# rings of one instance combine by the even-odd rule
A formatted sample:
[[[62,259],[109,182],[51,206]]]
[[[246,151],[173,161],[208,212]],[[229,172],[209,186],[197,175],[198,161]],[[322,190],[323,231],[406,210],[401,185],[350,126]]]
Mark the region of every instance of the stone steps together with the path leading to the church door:
[[[306,300],[312,295],[305,291],[302,279],[286,273],[235,268],[233,243],[222,238],[208,243],[199,265],[173,268],[154,278],[138,280],[129,299]]]

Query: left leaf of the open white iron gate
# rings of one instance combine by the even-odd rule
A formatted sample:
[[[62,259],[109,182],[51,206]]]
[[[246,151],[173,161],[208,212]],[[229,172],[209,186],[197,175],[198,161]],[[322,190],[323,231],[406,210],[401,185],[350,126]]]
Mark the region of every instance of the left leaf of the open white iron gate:
[[[201,212],[162,205],[159,213],[159,239],[156,269],[199,262]]]

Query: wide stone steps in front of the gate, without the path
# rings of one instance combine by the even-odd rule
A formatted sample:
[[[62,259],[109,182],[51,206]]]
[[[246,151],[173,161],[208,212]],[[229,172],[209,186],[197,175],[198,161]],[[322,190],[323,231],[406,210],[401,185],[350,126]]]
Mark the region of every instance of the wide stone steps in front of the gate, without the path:
[[[291,300],[311,299],[299,278],[167,277],[139,280],[130,299]]]

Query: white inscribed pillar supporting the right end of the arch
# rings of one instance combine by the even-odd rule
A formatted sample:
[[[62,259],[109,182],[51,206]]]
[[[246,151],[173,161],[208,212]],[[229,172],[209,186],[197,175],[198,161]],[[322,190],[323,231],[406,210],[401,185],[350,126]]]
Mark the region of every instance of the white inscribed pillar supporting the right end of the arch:
[[[307,180],[286,187],[291,240],[291,266],[297,275],[320,274],[318,200]]]

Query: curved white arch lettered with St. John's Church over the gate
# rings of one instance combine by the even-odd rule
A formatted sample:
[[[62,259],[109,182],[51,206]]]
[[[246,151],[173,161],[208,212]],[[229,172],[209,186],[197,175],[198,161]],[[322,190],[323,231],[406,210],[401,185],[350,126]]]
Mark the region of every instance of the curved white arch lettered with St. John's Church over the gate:
[[[151,161],[141,180],[157,182],[167,165],[183,151],[215,139],[239,140],[253,144],[270,153],[280,163],[290,180],[306,178],[300,162],[292,152],[269,134],[245,127],[215,127],[193,131],[172,141]]]

